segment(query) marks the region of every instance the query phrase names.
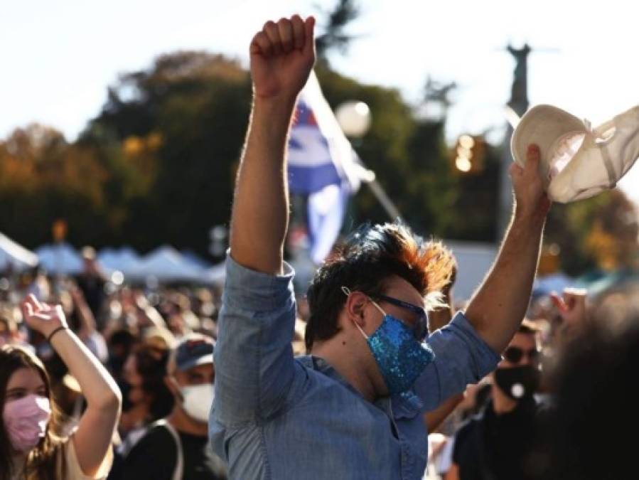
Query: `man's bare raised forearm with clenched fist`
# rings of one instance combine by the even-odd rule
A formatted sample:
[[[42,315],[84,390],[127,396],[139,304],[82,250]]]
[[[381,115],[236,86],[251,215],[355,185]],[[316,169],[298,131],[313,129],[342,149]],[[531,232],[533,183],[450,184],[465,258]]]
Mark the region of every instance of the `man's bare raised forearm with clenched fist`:
[[[297,95],[315,62],[313,17],[264,24],[250,46],[253,109],[235,186],[231,255],[252,270],[281,274],[289,220],[286,142]]]

